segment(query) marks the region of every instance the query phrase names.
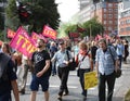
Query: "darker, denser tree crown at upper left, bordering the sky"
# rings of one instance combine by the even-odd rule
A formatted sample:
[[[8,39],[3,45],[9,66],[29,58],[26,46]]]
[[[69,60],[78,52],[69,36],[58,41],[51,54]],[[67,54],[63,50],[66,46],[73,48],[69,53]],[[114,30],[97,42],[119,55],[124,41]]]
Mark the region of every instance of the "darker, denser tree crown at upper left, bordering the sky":
[[[23,0],[22,2],[30,11],[28,21],[30,31],[41,33],[44,25],[57,29],[60,14],[57,13],[57,4],[55,4],[54,0]]]

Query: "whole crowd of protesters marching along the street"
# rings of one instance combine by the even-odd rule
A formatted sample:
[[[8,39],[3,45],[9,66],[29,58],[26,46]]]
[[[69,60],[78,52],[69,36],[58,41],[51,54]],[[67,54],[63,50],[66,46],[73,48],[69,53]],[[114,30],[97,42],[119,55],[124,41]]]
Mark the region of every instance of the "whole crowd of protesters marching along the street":
[[[73,61],[73,58],[75,58],[79,64],[78,77],[82,89],[81,94],[83,101],[87,100],[83,74],[94,70],[98,72],[99,77],[99,101],[105,101],[105,83],[108,85],[107,101],[112,101],[115,85],[114,72],[121,68],[122,62],[127,63],[129,55],[129,42],[127,39],[112,37],[110,39],[101,39],[100,41],[51,40],[48,41],[48,43],[46,43],[43,39],[38,39],[37,43],[38,50],[32,53],[31,59],[11,49],[8,42],[3,42],[1,46],[1,52],[9,55],[14,62],[15,66],[13,70],[17,75],[18,91],[22,94],[26,91],[27,74],[31,72],[30,101],[36,101],[39,85],[41,85],[42,91],[44,92],[44,100],[49,101],[50,75],[47,72],[52,63],[51,75],[57,75],[61,80],[60,91],[57,93],[57,99],[61,101],[63,96],[69,94],[67,87],[69,70],[67,66],[69,62]],[[112,56],[116,61],[116,64],[113,63]],[[16,99],[18,99],[18,97],[16,97]]]

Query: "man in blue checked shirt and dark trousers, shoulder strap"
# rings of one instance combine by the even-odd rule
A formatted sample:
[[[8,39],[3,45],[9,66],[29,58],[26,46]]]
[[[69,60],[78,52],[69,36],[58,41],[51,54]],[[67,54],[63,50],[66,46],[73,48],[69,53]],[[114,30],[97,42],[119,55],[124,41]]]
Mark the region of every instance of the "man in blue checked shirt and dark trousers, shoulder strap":
[[[99,101],[105,101],[106,83],[108,88],[107,101],[112,101],[116,79],[115,72],[119,68],[118,56],[114,47],[107,47],[105,39],[101,39],[99,46],[95,58],[95,67],[99,75]]]

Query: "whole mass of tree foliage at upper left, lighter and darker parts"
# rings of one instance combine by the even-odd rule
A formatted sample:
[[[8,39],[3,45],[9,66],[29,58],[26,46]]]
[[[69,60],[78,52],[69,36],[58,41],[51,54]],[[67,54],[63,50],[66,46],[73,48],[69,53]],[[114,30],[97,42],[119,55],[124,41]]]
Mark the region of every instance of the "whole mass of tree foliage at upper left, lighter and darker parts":
[[[17,29],[20,25],[29,26],[28,31],[42,33],[44,25],[57,29],[60,14],[54,0],[21,0],[25,9],[29,12],[29,18],[25,22],[20,20],[16,0],[9,0],[6,8],[6,26]]]

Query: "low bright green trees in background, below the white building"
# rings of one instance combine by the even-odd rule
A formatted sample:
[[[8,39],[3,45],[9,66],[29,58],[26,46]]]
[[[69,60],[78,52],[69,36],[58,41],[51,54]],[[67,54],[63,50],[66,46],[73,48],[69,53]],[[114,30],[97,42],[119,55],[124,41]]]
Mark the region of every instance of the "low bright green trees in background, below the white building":
[[[78,31],[78,26],[82,29],[84,29],[84,31]],[[65,33],[80,33],[80,37],[83,38],[86,36],[96,36],[98,34],[103,34],[104,28],[103,25],[98,22],[98,17],[93,17],[90,21],[84,22],[83,24],[69,24],[66,28],[65,28]]]

